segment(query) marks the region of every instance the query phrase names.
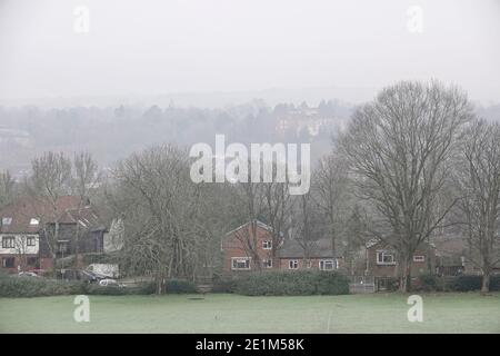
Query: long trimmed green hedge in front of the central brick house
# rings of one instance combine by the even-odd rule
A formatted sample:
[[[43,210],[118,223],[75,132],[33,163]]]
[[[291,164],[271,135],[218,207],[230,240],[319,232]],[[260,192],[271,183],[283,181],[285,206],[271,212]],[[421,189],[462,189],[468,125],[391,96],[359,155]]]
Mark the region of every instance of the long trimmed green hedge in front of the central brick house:
[[[337,295],[349,293],[349,281],[332,271],[251,273],[236,279],[236,293],[248,296]]]

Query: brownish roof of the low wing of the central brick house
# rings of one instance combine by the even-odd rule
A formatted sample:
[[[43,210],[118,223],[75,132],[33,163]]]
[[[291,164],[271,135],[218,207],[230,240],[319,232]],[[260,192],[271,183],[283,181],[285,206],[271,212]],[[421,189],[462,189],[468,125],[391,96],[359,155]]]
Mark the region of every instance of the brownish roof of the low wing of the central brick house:
[[[308,251],[308,254],[306,254]],[[280,258],[333,258],[331,238],[320,238],[307,244],[298,239],[286,239],[277,251]]]

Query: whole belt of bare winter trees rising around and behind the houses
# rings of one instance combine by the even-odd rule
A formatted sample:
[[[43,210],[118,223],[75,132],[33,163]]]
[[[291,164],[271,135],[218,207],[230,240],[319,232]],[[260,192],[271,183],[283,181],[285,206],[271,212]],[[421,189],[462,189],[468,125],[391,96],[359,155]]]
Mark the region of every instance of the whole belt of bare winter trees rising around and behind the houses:
[[[328,237],[347,266],[378,238],[397,251],[402,291],[410,289],[411,258],[422,244],[463,238],[486,293],[500,257],[500,125],[476,112],[462,90],[438,81],[384,88],[332,139],[302,196],[289,195],[287,182],[194,184],[188,147],[173,144],[133,152],[102,176],[87,162],[92,181],[99,179],[91,185],[78,178],[86,169],[76,169],[76,159],[49,152],[32,161],[23,186],[51,198],[63,191],[94,196],[109,221],[122,221],[124,270],[151,274],[158,293],[168,278],[218,270],[224,233],[256,220],[271,227],[273,255],[282,238],[297,239],[307,256]],[[88,154],[77,157],[93,161]],[[0,184],[2,204],[26,191],[8,172]],[[239,238],[259,261],[256,228],[251,224]]]

